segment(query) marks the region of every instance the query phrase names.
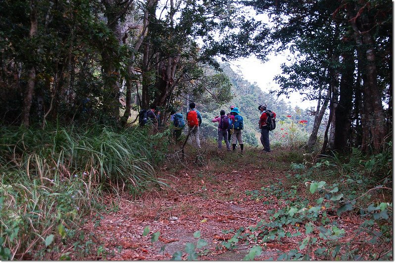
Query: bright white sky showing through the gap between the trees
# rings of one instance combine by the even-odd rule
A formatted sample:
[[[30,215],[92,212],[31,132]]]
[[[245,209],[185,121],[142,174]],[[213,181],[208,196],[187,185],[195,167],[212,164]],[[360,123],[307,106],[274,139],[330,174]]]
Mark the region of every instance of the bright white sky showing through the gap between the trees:
[[[261,62],[255,56],[250,56],[247,58],[241,58],[230,62],[231,68],[239,72],[244,78],[250,83],[256,83],[259,88],[264,92],[269,92],[270,90],[279,90],[279,85],[274,81],[274,77],[280,73],[282,63],[287,62],[288,54],[278,54],[269,56],[267,62]],[[287,102],[290,102],[292,107],[298,106],[302,109],[316,107],[314,101],[302,101],[302,96],[294,92],[290,94],[290,98],[281,95],[279,97]]]

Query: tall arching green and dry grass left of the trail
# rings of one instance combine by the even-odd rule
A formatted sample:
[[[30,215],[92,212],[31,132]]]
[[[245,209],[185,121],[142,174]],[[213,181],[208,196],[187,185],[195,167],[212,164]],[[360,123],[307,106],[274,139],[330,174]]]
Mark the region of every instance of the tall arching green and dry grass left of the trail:
[[[166,141],[163,134],[153,139],[147,130],[95,125],[45,131],[2,127],[0,133],[2,260],[67,259],[68,239],[89,251],[92,240],[77,237],[75,230],[100,204],[103,189],[137,195],[164,184],[153,167],[164,156],[160,150],[166,145],[158,146]]]

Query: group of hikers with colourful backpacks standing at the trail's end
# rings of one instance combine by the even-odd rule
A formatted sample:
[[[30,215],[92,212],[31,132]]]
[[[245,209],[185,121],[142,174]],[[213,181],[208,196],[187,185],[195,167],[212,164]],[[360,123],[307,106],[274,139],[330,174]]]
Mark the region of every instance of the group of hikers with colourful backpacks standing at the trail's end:
[[[190,103],[190,111],[187,113],[186,120],[188,130],[188,142],[193,145],[195,141],[196,146],[200,149],[199,140],[199,127],[202,123],[202,117],[200,112],[197,110],[196,104],[194,102]],[[267,110],[265,104],[259,105],[258,110],[260,111],[260,118],[258,120],[258,126],[261,132],[260,141],[263,145],[263,152],[271,152],[269,144],[269,132],[275,129],[275,118],[276,114],[273,111]],[[223,140],[226,143],[227,151],[235,151],[237,148],[237,143],[241,148],[241,153],[244,152],[244,142],[242,139],[242,130],[244,130],[244,119],[239,115],[239,109],[234,105],[230,106],[230,112],[226,115],[224,110],[220,111],[220,116],[215,116],[212,119],[213,123],[218,123],[218,149],[221,150]],[[141,116],[143,115],[143,116]],[[155,106],[151,105],[150,110],[147,112],[141,112],[139,114],[139,124],[141,126],[145,125],[148,120],[154,125],[158,124],[159,114],[156,114]],[[176,111],[171,112],[170,120],[174,126],[173,135],[176,139],[182,134],[186,126],[184,117],[182,113],[176,113]]]

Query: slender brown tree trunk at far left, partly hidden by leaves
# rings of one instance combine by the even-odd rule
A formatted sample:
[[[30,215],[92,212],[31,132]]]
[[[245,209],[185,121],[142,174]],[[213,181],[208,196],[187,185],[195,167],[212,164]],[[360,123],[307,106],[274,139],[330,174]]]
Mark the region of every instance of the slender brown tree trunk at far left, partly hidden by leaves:
[[[32,1],[30,13],[30,32],[29,37],[32,39],[36,37],[38,30],[36,1]],[[29,127],[30,108],[32,107],[32,99],[36,81],[36,68],[34,65],[28,67],[28,81],[26,86],[25,97],[23,99],[22,108],[22,126]]]

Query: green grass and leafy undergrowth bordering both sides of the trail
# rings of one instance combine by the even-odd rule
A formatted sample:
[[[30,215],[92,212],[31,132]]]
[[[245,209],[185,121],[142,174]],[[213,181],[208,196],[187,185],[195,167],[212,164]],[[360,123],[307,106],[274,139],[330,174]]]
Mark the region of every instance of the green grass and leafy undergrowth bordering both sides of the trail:
[[[99,225],[106,213],[117,212],[120,196],[135,199],[153,189],[164,194],[169,177],[162,175],[199,167],[206,169],[194,180],[208,183],[209,174],[219,170],[254,167],[277,175],[239,193],[273,209],[250,227],[224,229],[232,238],[219,249],[250,245],[246,259],[252,260],[268,242],[295,238],[295,248],[279,251],[273,260],[392,260],[392,143],[368,156],[358,149],[316,156],[294,141],[278,144],[274,154],[260,156],[248,146],[244,155],[225,158],[211,150],[210,141],[202,152],[187,145],[183,156],[183,141],[175,143],[169,130],[152,134],[92,125],[1,132],[2,260],[105,259],[104,244],[94,233],[81,231],[88,220]],[[160,169],[164,165],[166,171]],[[351,214],[362,219],[353,237],[340,224]],[[160,235],[152,233],[151,241]],[[186,245],[173,259],[199,259],[207,242],[198,243]]]

